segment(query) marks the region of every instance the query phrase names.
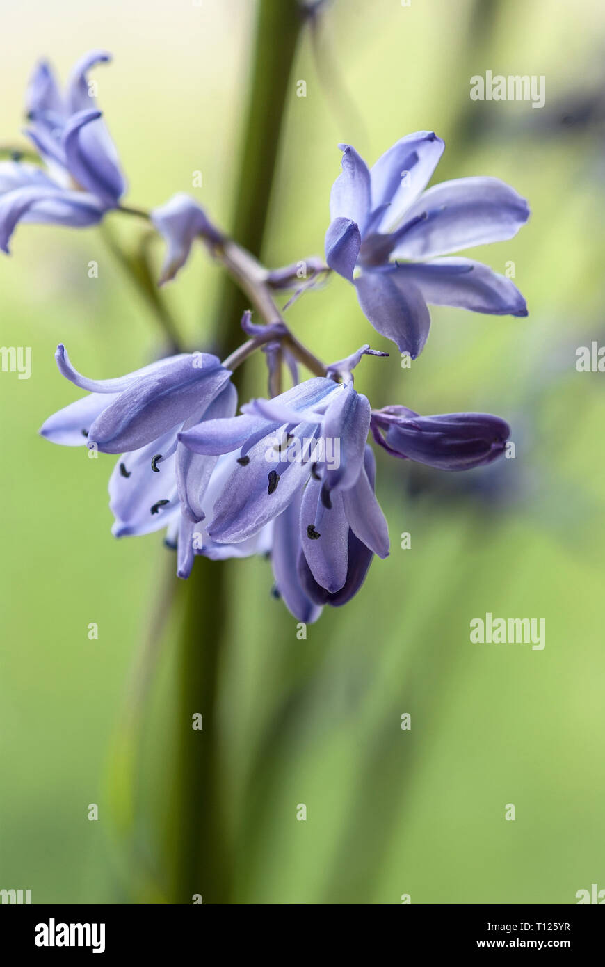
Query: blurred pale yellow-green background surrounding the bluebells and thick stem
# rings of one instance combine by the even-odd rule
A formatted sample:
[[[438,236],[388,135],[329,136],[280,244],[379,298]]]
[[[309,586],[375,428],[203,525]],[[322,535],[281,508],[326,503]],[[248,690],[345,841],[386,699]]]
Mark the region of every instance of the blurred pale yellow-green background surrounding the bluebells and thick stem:
[[[127,203],[187,191],[230,224],[254,3],[1,9],[0,144],[23,143],[41,56],[65,78],[104,47],[114,62],[93,76]],[[530,315],[432,308],[411,369],[340,278],[305,294],[289,323],[325,360],[365,341],[390,351],[356,373],[375,406],[496,413],[516,456],[447,475],[378,454],[391,554],[306,640],[271,597],[267,562],[227,566],[216,721],[230,901],[573,903],[605,889],[605,375],[575,368],[578,346],[605,344],[605,15],[596,0],[334,0],[322,14],[289,81],[266,263],[323,253],[339,142],[372,163],[434,130],[447,143],[437,181],[495,176],[530,200],[517,238],[469,253],[501,273],[514,262]],[[470,78],[487,70],[544,75],[545,105],[472,102]],[[138,230],[107,221],[126,242]],[[191,347],[216,344],[220,277],[200,247],[166,288]],[[3,345],[32,347],[29,380],[0,373],[0,889],[30,889],[34,903],[170,902],[174,558],[160,533],[111,537],[111,457],[37,436],[77,396],[54,364],[58,341],[108,377],[157,356],[161,333],[97,229],[17,228],[0,317]],[[265,392],[260,365],[246,380]],[[545,618],[545,649],[472,645],[469,622],[487,611]]]

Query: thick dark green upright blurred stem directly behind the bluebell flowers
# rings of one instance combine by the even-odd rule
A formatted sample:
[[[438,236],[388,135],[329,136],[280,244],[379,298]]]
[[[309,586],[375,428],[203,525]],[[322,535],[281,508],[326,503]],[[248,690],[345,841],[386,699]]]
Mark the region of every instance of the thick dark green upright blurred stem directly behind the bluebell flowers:
[[[259,0],[250,97],[240,155],[232,236],[259,256],[274,183],[284,108],[297,41],[303,26],[298,0]],[[221,355],[240,339],[247,299],[226,274],[216,312]],[[176,807],[172,902],[228,903],[233,855],[222,807],[217,698],[225,644],[225,617],[232,604],[224,564],[198,558],[185,590],[185,622],[179,648],[181,707],[175,780]],[[233,602],[237,604],[237,601]],[[191,727],[203,716],[203,730]]]

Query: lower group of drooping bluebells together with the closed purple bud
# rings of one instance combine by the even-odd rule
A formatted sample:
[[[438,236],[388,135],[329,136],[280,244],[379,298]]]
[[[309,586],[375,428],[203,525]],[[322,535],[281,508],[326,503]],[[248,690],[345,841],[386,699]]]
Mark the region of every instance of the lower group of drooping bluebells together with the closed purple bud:
[[[389,554],[370,429],[389,453],[447,470],[489,463],[509,435],[504,420],[480,413],[372,411],[339,364],[331,376],[251,400],[236,416],[231,372],[216,356],[182,354],[107,380],[78,373],[63,345],[56,360],[89,395],[51,416],[41,433],[121,454],[109,482],[116,537],[166,528],[180,577],[196,554],[269,554],[277,593],[304,622],[324,604],[349,601],[373,556]],[[337,460],[320,445],[329,440],[338,442]]]

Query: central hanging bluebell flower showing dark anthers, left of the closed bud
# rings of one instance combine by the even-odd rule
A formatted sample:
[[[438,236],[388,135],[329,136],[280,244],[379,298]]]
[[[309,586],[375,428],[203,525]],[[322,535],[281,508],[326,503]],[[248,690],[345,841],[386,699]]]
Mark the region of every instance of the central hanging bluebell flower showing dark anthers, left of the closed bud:
[[[300,620],[315,620],[323,603],[348,601],[373,554],[389,554],[366,447],[369,425],[369,402],[352,380],[320,376],[252,400],[241,416],[179,433],[196,454],[239,454],[208,535],[243,542],[274,521],[275,583]]]

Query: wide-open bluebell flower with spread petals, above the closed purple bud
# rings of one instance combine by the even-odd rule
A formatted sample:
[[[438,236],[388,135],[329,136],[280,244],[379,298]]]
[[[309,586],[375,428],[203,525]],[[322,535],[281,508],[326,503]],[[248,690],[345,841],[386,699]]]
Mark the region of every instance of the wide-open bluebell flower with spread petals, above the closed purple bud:
[[[370,170],[340,145],[342,172],[331,189],[329,266],[355,283],[377,332],[416,359],[430,327],[427,303],[493,315],[527,315],[509,278],[460,249],[512,238],[528,204],[498,178],[459,178],[425,190],[445,144],[433,132],[408,134]]]

